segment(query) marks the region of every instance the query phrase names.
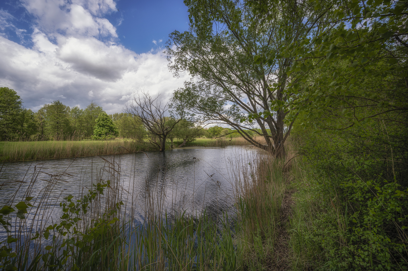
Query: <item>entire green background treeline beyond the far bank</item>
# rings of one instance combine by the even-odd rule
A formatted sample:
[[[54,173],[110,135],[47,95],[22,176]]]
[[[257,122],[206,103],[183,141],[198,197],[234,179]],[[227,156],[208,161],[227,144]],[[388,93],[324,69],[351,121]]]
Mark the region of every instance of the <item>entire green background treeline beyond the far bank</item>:
[[[109,116],[114,124],[107,133],[110,136],[95,136],[95,125],[101,115]],[[166,117],[171,122],[171,117]],[[106,121],[106,120],[105,120]],[[187,123],[187,124],[186,124]],[[109,121],[105,126],[109,126]],[[194,123],[184,121],[178,124],[167,137],[173,145],[175,139],[186,142],[197,137],[215,139],[220,137],[240,137],[231,128],[212,126],[202,128]],[[247,131],[255,134],[252,131]],[[149,134],[140,118],[131,113],[114,113],[107,115],[101,106],[91,102],[86,108],[78,106],[70,108],[60,100],[44,104],[37,112],[24,108],[22,99],[16,91],[7,87],[0,88],[0,140],[2,141],[63,141],[83,139],[132,139],[144,142],[154,137]]]

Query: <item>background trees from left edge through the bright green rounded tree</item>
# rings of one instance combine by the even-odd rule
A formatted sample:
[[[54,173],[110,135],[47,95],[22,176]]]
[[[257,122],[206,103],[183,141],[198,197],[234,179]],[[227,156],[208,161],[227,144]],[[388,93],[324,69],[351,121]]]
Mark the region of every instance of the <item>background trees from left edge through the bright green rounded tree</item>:
[[[91,102],[85,109],[70,108],[60,100],[44,104],[37,112],[24,108],[20,96],[9,88],[0,88],[1,140],[89,139],[95,120],[104,112]]]

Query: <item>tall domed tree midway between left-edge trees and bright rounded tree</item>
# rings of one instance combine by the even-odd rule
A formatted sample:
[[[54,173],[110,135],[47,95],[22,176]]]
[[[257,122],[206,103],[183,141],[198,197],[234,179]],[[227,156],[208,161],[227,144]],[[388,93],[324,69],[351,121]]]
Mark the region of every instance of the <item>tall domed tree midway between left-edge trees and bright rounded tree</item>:
[[[62,104],[60,100],[44,106],[47,117],[47,128],[55,140],[63,140],[64,136],[72,132],[69,106]]]

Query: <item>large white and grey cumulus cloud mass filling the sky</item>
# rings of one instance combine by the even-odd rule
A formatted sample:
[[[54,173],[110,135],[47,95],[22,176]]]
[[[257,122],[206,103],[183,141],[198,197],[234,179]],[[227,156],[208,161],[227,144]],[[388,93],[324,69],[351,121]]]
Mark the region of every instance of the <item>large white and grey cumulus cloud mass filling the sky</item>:
[[[38,110],[57,99],[84,108],[93,100],[108,113],[120,112],[139,90],[167,100],[189,79],[173,77],[163,53],[136,54],[120,44],[115,27],[103,18],[116,11],[112,0],[23,4],[36,18],[33,46],[0,35],[0,86],[16,90],[27,108]],[[1,32],[11,27],[8,16],[0,14]]]

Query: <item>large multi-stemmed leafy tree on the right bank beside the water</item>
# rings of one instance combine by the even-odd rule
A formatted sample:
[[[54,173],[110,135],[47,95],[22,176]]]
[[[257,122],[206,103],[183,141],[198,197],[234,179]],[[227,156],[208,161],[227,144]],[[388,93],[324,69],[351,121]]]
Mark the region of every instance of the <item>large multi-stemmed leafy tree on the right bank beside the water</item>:
[[[193,79],[175,91],[173,106],[188,109],[196,120],[228,124],[251,144],[284,155],[293,122],[285,125],[288,110],[270,108],[288,103],[285,71],[295,59],[271,55],[255,64],[254,57],[278,54],[282,46],[315,35],[324,16],[295,0],[280,1],[267,17],[240,1],[184,3],[190,29],[171,33],[166,53],[175,75],[188,71]],[[265,137],[267,145],[247,129]]]

